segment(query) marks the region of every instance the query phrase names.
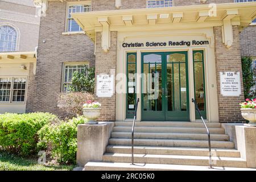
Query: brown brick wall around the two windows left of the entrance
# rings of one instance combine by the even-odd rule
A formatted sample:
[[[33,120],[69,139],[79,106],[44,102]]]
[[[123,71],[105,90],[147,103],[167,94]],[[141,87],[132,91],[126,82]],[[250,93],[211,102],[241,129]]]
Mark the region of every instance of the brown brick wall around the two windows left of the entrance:
[[[63,114],[57,107],[63,63],[90,61],[90,66],[94,66],[94,43],[88,36],[61,34],[65,30],[65,16],[66,3],[50,1],[46,16],[41,18],[36,75],[29,80],[27,112]]]

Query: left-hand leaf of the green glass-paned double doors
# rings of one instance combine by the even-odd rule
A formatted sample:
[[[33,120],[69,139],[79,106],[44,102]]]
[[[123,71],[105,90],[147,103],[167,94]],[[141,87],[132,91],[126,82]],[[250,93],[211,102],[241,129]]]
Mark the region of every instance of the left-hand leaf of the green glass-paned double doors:
[[[142,53],[142,118],[164,121],[163,53]]]

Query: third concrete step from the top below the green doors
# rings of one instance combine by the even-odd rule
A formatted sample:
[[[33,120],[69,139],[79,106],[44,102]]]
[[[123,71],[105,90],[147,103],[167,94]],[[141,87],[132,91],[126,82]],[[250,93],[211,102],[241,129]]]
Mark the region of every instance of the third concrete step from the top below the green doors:
[[[112,138],[131,138],[130,132],[113,132]],[[147,139],[187,139],[187,140],[208,140],[207,134],[193,134],[193,133],[134,133],[134,138]],[[228,141],[229,135],[212,134],[212,140]]]

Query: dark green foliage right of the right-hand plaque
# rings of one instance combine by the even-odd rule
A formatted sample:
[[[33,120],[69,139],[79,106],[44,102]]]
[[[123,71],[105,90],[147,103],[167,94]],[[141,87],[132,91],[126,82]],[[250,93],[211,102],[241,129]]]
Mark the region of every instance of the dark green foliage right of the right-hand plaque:
[[[255,98],[256,89],[254,81],[254,68],[252,67],[253,60],[251,57],[242,57],[242,71],[243,71],[243,92],[245,98]]]

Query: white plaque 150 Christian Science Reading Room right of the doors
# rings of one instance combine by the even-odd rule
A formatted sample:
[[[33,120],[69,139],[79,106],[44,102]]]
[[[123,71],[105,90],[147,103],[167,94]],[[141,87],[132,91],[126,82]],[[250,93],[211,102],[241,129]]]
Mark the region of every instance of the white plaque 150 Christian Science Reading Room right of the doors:
[[[241,95],[240,72],[220,72],[220,87],[222,96],[239,97]]]

